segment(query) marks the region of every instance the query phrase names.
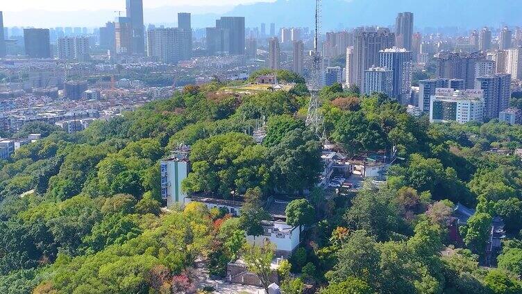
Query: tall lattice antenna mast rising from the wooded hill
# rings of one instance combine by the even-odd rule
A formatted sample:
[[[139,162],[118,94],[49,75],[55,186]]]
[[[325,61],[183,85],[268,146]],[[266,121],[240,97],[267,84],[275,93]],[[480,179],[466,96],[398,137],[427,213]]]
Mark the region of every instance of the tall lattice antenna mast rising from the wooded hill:
[[[321,87],[321,53],[319,52],[319,31],[321,30],[321,0],[315,0],[315,36],[314,52],[312,53],[312,85],[310,87],[310,105],[306,126],[312,130],[317,137],[323,137],[323,117],[319,113],[321,101],[319,101],[319,89]]]

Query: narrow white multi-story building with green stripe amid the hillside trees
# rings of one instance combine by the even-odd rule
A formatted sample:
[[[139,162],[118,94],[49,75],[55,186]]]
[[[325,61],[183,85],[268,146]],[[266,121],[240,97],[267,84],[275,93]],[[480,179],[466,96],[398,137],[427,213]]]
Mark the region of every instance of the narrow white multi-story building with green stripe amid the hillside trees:
[[[180,146],[171,156],[160,162],[161,196],[167,207],[185,203],[187,193],[182,191],[181,182],[190,171],[189,153],[190,147]]]

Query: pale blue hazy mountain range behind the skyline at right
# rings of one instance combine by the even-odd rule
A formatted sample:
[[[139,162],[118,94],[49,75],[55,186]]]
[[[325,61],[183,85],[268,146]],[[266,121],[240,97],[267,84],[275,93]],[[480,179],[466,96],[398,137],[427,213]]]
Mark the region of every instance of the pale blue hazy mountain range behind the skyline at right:
[[[276,26],[312,26],[312,0],[278,0],[239,5],[226,15],[245,16],[247,26],[276,22]],[[522,24],[521,0],[323,0],[323,28],[388,26],[398,12],[414,12],[416,27]]]

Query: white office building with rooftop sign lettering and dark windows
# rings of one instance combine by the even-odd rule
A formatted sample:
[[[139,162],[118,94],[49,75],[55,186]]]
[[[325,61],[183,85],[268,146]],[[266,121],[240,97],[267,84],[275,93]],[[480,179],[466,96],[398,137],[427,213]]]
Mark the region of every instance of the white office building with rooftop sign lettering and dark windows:
[[[484,92],[467,89],[436,89],[430,101],[430,122],[444,123],[456,121],[482,122],[484,115]]]

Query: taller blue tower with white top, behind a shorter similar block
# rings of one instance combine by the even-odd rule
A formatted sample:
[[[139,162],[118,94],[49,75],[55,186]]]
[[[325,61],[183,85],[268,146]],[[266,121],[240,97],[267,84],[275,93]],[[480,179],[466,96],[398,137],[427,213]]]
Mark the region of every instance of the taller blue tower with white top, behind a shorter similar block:
[[[394,73],[390,97],[396,98],[403,105],[408,105],[412,96],[412,51],[397,47],[381,50],[379,66]]]

